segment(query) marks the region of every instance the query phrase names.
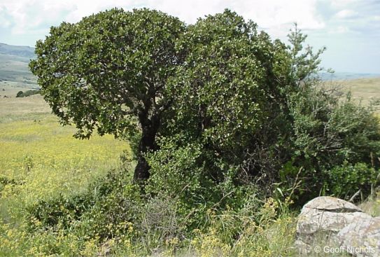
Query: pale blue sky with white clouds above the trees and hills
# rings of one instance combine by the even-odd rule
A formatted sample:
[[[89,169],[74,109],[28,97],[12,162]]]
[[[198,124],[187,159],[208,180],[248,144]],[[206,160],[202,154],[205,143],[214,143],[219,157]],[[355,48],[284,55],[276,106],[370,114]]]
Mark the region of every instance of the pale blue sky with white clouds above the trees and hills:
[[[153,8],[187,24],[229,8],[283,41],[297,22],[307,44],[327,48],[324,68],[380,74],[380,0],[0,0],[0,42],[34,46],[51,26],[113,7]]]

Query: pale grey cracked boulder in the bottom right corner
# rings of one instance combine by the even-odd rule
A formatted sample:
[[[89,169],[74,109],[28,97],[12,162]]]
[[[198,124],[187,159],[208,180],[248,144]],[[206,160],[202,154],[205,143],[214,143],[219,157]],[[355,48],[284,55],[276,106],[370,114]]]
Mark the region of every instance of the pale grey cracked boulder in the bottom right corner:
[[[353,256],[380,256],[380,218],[372,218],[351,202],[317,197],[302,208],[296,246],[300,253],[335,248]]]

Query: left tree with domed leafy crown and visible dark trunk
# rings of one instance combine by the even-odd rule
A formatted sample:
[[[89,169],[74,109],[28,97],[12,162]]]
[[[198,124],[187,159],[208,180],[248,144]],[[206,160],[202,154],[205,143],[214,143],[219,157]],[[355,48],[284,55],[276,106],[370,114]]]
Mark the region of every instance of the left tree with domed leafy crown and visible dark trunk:
[[[36,43],[30,69],[62,125],[76,125],[76,137],[88,139],[95,130],[129,138],[141,133],[134,179],[147,179],[144,154],[155,150],[172,102],[165,88],[182,62],[175,43],[184,30],[160,11],[114,8],[51,27]]]

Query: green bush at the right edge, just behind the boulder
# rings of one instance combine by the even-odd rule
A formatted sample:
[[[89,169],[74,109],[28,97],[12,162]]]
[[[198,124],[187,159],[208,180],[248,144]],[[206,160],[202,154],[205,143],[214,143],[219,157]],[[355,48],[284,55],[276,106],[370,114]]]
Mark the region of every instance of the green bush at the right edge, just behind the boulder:
[[[293,135],[287,151],[291,155],[283,164],[279,182],[290,188],[296,175],[302,180],[297,181],[300,184],[294,195],[300,205],[322,191],[340,197],[356,193],[348,185],[340,188],[339,192],[332,192],[332,188],[325,190],[325,185],[330,184],[332,179],[326,176],[325,171],[356,165],[380,167],[377,160],[380,156],[380,126],[373,115],[372,106],[360,106],[351,101],[350,95],[342,99],[338,95],[328,94],[326,88],[316,87],[304,87],[290,95],[289,103]],[[353,175],[350,170],[346,171],[347,177]],[[342,176],[344,173],[339,175]],[[363,172],[360,176],[372,181],[371,172]],[[360,187],[368,188],[372,183],[370,181]],[[309,193],[303,194],[305,191]],[[362,193],[366,196],[368,191]]]

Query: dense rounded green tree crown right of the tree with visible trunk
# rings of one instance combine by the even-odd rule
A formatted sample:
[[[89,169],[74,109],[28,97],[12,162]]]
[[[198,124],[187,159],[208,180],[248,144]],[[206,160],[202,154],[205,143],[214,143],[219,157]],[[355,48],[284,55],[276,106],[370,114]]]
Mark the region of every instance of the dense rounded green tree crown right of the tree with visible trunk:
[[[259,151],[288,131],[281,109],[293,81],[286,46],[225,10],[190,25],[178,50],[185,52],[185,62],[168,86],[176,102],[165,135],[183,133],[190,137],[185,140],[201,141],[200,158],[214,178],[225,174],[215,165],[220,158],[227,163],[223,167],[249,162],[244,167],[249,176],[269,173],[267,165],[275,170],[274,161]]]

